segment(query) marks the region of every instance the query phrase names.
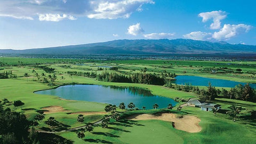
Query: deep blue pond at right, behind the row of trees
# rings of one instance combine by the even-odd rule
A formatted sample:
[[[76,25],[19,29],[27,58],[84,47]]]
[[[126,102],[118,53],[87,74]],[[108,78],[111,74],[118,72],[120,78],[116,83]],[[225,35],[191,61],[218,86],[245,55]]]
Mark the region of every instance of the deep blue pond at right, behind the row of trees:
[[[208,86],[208,83],[211,82],[212,86],[215,87],[230,87],[233,88],[237,84],[246,84],[244,82],[237,82],[237,81],[230,81],[230,80],[222,80],[222,79],[211,79],[211,78],[204,78],[204,77],[196,77],[196,76],[189,76],[189,75],[178,75],[174,81],[176,84],[185,84],[191,83],[193,86]],[[255,83],[249,83],[253,89],[256,89]]]

